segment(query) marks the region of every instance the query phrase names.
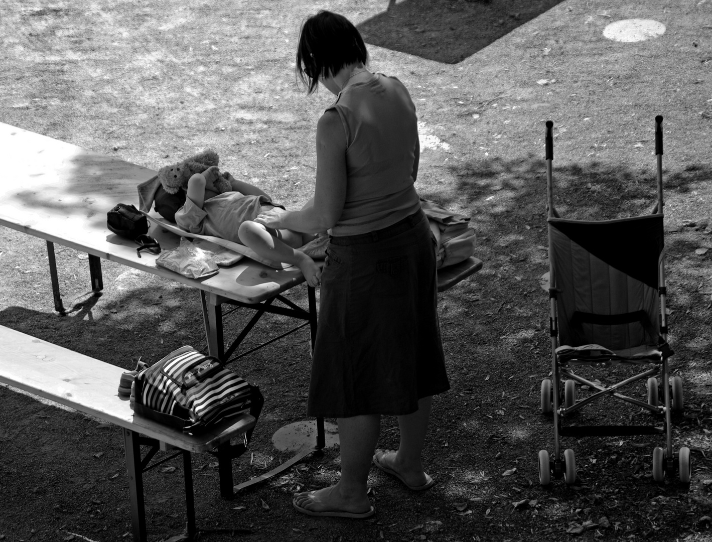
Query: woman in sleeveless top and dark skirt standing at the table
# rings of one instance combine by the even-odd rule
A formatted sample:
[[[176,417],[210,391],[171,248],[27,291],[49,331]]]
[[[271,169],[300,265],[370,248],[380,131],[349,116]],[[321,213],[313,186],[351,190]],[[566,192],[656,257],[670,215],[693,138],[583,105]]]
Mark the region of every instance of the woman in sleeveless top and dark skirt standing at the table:
[[[312,516],[372,516],[371,462],[410,489],[429,489],[421,452],[431,398],[449,390],[434,241],[414,188],[415,106],[399,80],[371,73],[367,60],[345,17],[320,11],[305,21],[297,73],[309,93],[321,83],[336,95],[317,125],[313,204],[256,219],[330,234],[307,413],[337,418],[341,478],[295,495],[295,509]],[[381,415],[398,417],[397,452],[375,450]]]

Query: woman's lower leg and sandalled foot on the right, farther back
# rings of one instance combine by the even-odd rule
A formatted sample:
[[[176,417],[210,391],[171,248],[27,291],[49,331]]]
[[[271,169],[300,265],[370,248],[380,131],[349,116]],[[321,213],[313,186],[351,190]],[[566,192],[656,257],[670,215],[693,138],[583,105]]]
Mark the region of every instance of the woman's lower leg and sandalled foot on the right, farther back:
[[[429,476],[423,471],[422,452],[428,432],[432,399],[423,397],[418,401],[416,412],[398,417],[401,441],[397,452],[376,452],[379,462],[400,474],[409,486],[422,486],[429,480]]]

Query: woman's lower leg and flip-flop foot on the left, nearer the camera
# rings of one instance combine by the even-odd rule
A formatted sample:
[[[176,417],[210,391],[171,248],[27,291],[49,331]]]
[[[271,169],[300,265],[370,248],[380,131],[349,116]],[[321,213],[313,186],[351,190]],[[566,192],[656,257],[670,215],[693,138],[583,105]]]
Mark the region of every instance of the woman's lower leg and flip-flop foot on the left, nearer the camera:
[[[310,511],[348,511],[360,514],[371,508],[366,494],[371,458],[381,430],[379,415],[338,418],[341,478],[329,487],[295,496],[295,503]]]

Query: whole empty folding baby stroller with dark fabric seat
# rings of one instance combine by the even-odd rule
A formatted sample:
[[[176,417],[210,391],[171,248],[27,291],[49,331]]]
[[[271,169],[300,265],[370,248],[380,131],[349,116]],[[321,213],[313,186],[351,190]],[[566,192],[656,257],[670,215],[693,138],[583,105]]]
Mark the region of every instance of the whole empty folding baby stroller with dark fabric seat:
[[[653,450],[653,479],[665,473],[688,483],[690,449],[672,448],[671,414],[683,408],[682,380],[669,377],[665,314],[665,269],[662,189],[662,117],[655,118],[658,201],[640,217],[588,221],[560,217],[553,202],[551,162],[553,123],[546,123],[548,176],[549,299],[552,377],[541,383],[541,409],[554,418],[554,457],[539,452],[539,480],[551,475],[576,480],[572,449],[561,453],[561,437],[665,434],[665,447]],[[610,370],[627,365],[632,377],[602,385],[574,372],[577,366]],[[658,377],[660,380],[658,380]],[[644,380],[647,401],[624,395],[624,387]],[[576,397],[576,382],[593,390]],[[563,420],[595,400],[614,397],[651,412],[653,425],[575,425]],[[660,401],[661,398],[661,401]],[[660,404],[660,402],[662,404]],[[610,411],[609,411],[610,412]]]

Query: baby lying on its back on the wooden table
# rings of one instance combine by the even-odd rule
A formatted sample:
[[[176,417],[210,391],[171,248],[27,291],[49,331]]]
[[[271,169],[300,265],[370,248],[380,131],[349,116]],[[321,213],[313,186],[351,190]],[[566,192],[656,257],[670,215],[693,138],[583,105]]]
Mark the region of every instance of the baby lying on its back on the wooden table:
[[[268,229],[253,222],[266,209],[283,207],[258,187],[239,181],[225,172],[234,192],[220,194],[214,186],[220,175],[217,166],[188,179],[187,198],[175,214],[175,222],[192,234],[211,235],[241,243],[259,256],[297,266],[309,286],[318,286],[321,270],[314,260],[295,250],[315,239],[290,229]]]

